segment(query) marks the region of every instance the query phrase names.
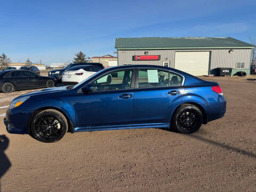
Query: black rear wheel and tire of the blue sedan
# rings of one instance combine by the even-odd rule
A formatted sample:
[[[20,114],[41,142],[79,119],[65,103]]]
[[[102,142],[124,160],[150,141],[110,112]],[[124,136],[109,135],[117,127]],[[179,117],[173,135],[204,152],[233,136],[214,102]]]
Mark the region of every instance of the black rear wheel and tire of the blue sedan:
[[[180,133],[194,133],[203,123],[202,111],[191,104],[181,105],[173,115],[172,126]]]

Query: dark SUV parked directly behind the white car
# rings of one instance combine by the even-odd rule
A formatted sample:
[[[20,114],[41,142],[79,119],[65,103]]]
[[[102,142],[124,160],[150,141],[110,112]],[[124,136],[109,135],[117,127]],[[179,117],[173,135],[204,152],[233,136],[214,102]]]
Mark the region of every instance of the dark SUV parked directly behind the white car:
[[[61,83],[61,77],[62,77],[62,73],[63,71],[69,69],[70,67],[74,67],[74,66],[78,66],[78,65],[95,65],[100,67],[101,69],[104,69],[103,65],[101,63],[91,63],[91,62],[85,62],[85,63],[70,63],[69,65],[67,65],[66,67],[64,67],[63,69],[55,69],[55,70],[51,70],[48,73],[49,77],[54,77],[55,79],[57,79],[57,81],[59,83]]]

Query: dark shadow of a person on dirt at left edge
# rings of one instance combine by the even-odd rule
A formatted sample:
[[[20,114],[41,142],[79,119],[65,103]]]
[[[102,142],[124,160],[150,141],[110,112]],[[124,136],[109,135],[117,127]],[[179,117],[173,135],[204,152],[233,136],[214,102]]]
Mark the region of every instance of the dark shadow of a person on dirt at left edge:
[[[5,155],[4,151],[9,146],[9,139],[5,135],[0,135],[0,181],[5,172],[11,167],[11,162]],[[0,183],[1,191],[1,183]]]

